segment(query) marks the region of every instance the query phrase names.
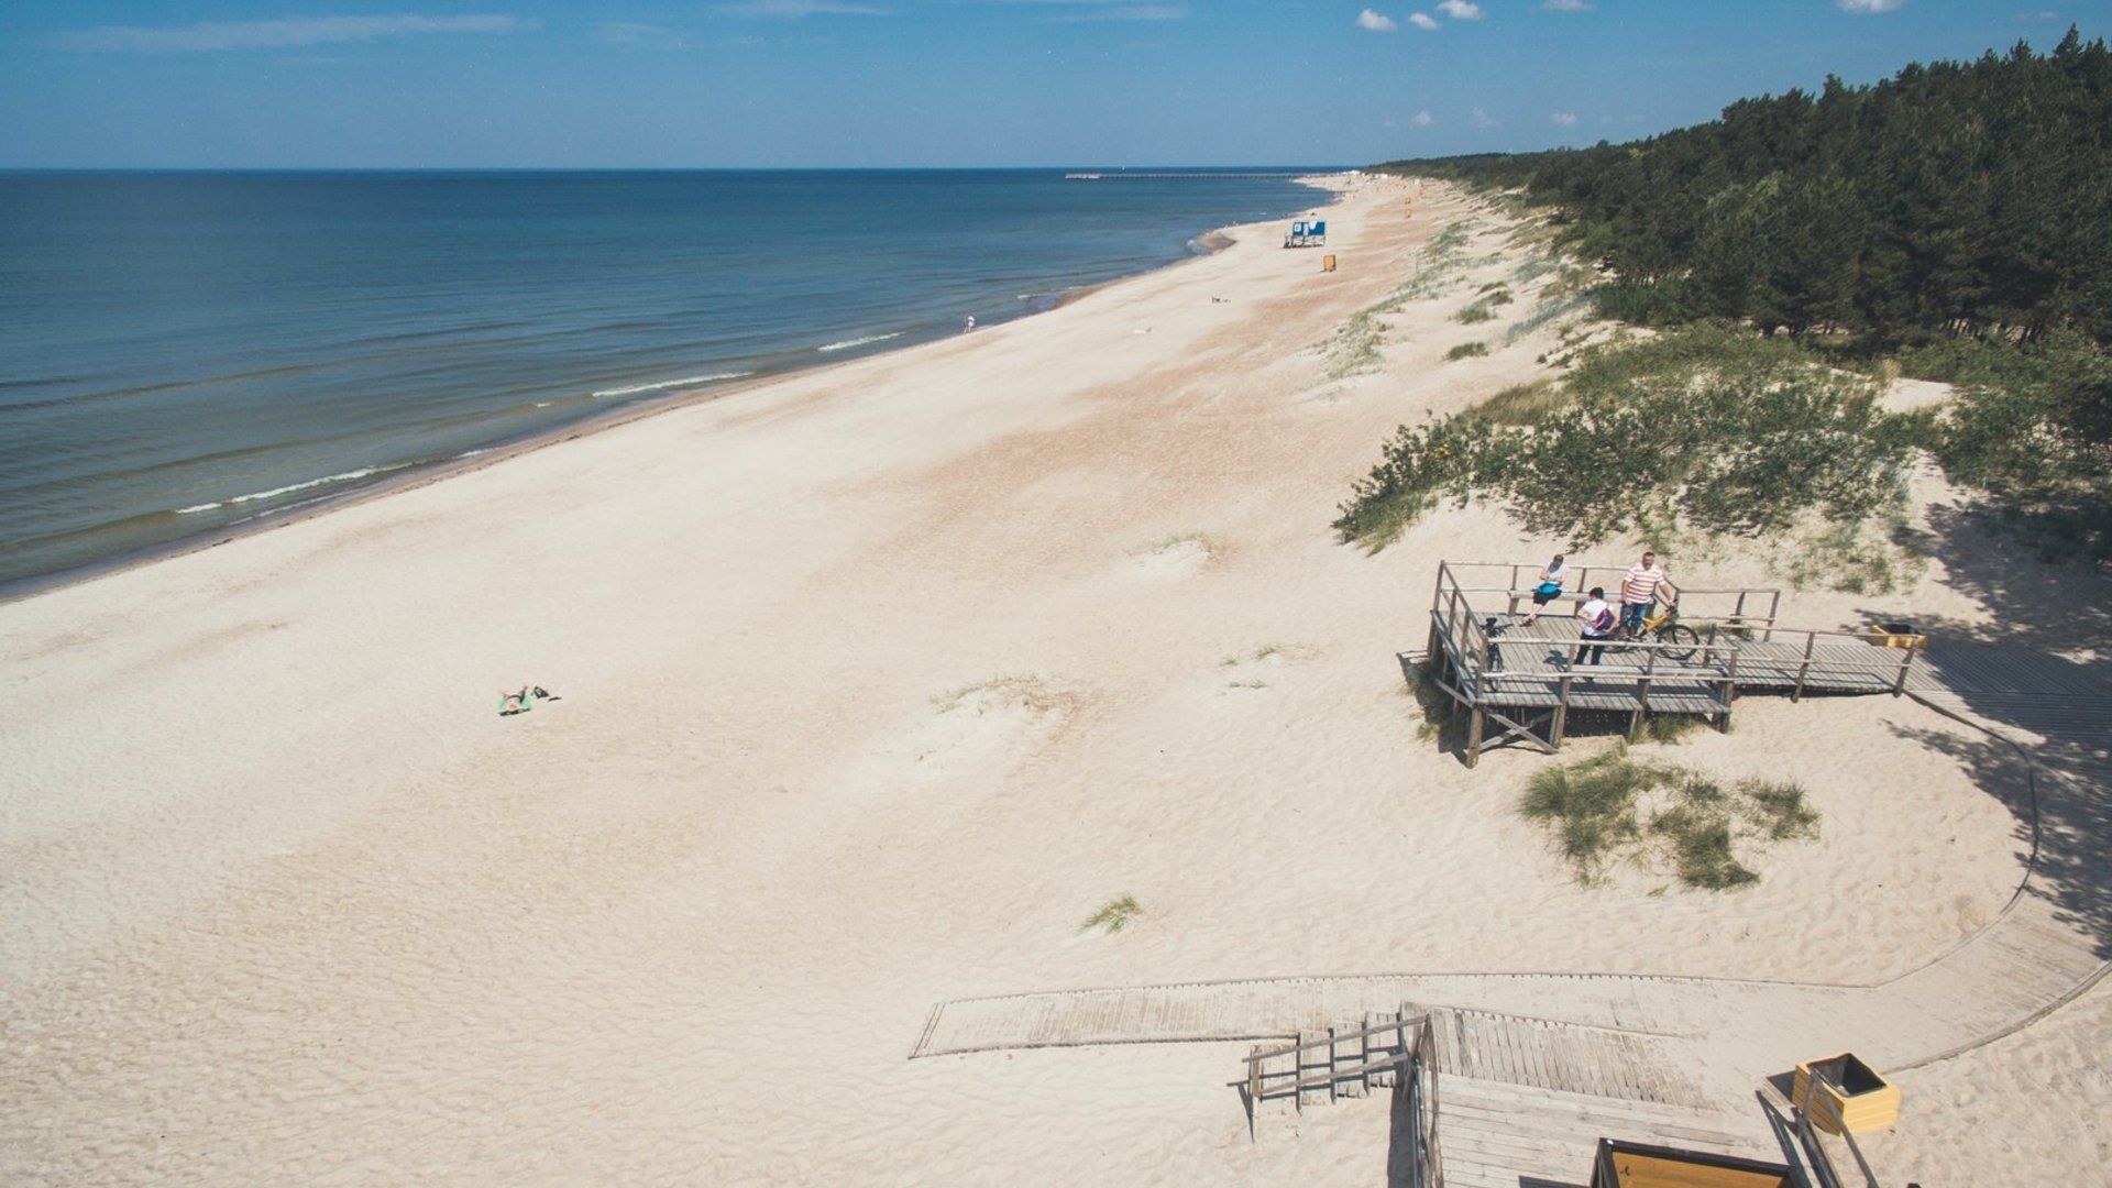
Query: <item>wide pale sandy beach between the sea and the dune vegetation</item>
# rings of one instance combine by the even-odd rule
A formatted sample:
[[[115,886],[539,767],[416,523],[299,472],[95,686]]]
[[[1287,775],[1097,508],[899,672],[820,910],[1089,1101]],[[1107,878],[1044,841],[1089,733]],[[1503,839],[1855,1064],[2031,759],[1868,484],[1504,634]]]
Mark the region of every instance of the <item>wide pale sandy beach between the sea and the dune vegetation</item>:
[[[1377,1184],[1383,1099],[1250,1141],[1244,1042],[910,1053],[963,998],[1865,985],[1996,922],[2023,763],[1911,700],[1753,698],[1658,744],[1823,814],[1730,894],[1580,886],[1516,812],[1557,759],[1417,736],[1436,562],[1561,543],[1481,505],[1377,554],[1328,522],[1396,425],[1546,374],[1567,323],[1453,321],[1519,264],[1470,197],[1331,184],[1333,273],[1231,228],[1043,315],[0,605],[0,1180]],[[1457,277],[1341,368],[1455,220]],[[1757,552],[1675,564],[1783,586]],[[1960,567],[1785,619],[2015,615]],[[560,700],[501,717],[522,685]],[[1119,896],[1134,924],[1083,928]],[[1584,1017],[1561,985],[1529,1013]],[[1888,1175],[2099,1177],[2108,1004],[1909,1074]],[[1732,1087],[1776,1057],[1726,1053]]]

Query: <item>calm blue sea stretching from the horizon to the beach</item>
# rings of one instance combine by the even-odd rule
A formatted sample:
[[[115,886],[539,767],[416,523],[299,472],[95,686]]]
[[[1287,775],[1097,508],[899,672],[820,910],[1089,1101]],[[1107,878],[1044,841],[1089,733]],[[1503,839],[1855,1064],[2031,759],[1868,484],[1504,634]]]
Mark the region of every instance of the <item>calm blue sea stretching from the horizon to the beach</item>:
[[[0,586],[1318,201],[1288,171],[0,173]]]

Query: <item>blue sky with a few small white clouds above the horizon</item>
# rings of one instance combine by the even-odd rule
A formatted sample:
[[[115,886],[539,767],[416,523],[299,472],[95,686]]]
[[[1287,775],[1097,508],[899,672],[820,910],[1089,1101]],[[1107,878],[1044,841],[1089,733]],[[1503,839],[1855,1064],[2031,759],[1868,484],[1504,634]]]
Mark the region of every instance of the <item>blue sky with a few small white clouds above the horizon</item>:
[[[0,0],[0,167],[1369,165],[2070,23],[2112,0]]]

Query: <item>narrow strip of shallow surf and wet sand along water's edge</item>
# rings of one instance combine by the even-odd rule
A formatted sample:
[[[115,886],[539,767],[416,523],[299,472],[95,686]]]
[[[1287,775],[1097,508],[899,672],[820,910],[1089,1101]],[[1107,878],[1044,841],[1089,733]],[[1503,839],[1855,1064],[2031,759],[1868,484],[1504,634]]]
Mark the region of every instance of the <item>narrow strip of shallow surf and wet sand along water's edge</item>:
[[[1318,190],[1320,194],[1324,194],[1324,201],[1318,203],[1318,205],[1320,207],[1328,207],[1328,205],[1339,203],[1341,197],[1343,197],[1343,190],[1331,188],[1328,180],[1339,180],[1339,178],[1347,178],[1347,175],[1350,175],[1347,171],[1343,171],[1343,173],[1307,173],[1307,175],[1290,178],[1290,182]],[[1018,323],[1018,321],[1029,321],[1033,317],[1041,317],[1041,315],[1054,313],[1058,309],[1067,309],[1071,304],[1077,304],[1077,302],[1086,300],[1088,296],[1092,296],[1092,294],[1107,292],[1111,287],[1124,285],[1124,283],[1134,281],[1138,277],[1151,277],[1151,275],[1164,273],[1168,268],[1178,268],[1181,264],[1187,264],[1191,260],[1217,256],[1219,252],[1225,252],[1227,247],[1231,247],[1236,243],[1236,239],[1233,239],[1231,233],[1248,228],[1248,226],[1263,226],[1263,222],[1274,222],[1274,220],[1227,224],[1227,226],[1214,226],[1214,228],[1202,230],[1202,233],[1191,235],[1187,239],[1187,243],[1189,243],[1191,249],[1185,256],[1176,258],[1176,260],[1166,260],[1162,264],[1153,264],[1149,268],[1143,268],[1143,271],[1136,271],[1136,273],[1126,273],[1126,275],[1119,275],[1119,277],[1109,277],[1105,281],[1094,281],[1090,285],[1077,285],[1077,287],[1071,287],[1071,290],[1062,290],[1062,292],[1056,294],[1054,300],[1050,300],[1041,309],[1029,309],[1026,313],[1022,313],[1018,317],[1010,317],[1005,321],[993,321],[993,323],[988,323],[984,328],[978,328],[978,330],[997,330],[1001,326],[1012,326],[1012,323]],[[558,446],[558,444],[564,444],[564,442],[577,442],[577,440],[583,440],[583,438],[591,438],[596,433],[604,433],[608,429],[617,429],[621,425],[629,425],[634,421],[642,421],[642,419],[648,419],[648,416],[659,416],[659,414],[672,412],[676,408],[689,408],[693,404],[705,404],[705,402],[727,400],[727,397],[733,397],[733,395],[748,395],[748,393],[752,393],[756,389],[765,389],[765,387],[771,387],[775,383],[786,383],[786,380],[792,380],[792,378],[807,378],[807,376],[815,376],[815,374],[826,374],[830,370],[857,366],[857,364],[864,364],[868,359],[908,355],[910,351],[927,349],[927,347],[934,347],[938,342],[950,342],[953,338],[955,338],[953,334],[946,334],[946,336],[940,336],[940,338],[925,338],[925,340],[917,340],[917,342],[902,342],[898,347],[885,347],[885,349],[872,351],[868,355],[855,355],[855,357],[849,357],[849,359],[822,359],[822,361],[807,364],[807,366],[794,366],[794,368],[788,368],[788,370],[781,370],[781,372],[758,374],[758,376],[743,376],[743,378],[729,380],[729,383],[722,383],[722,385],[716,385],[716,387],[670,389],[670,391],[665,391],[661,395],[653,395],[653,397],[646,397],[646,400],[640,400],[640,402],[634,402],[634,404],[623,404],[623,406],[617,406],[617,408],[606,408],[606,410],[589,412],[587,416],[583,416],[579,421],[570,421],[566,425],[558,425],[558,427],[551,427],[551,429],[536,429],[536,431],[530,431],[530,433],[526,433],[522,438],[501,438],[501,440],[496,440],[496,442],[492,442],[488,446],[477,446],[467,457],[465,454],[456,454],[452,459],[435,459],[435,461],[427,461],[427,463],[410,463],[410,465],[399,467],[397,471],[391,471],[386,478],[382,478],[378,482],[372,482],[372,484],[365,484],[365,486],[357,486],[357,488],[346,490],[342,495],[323,495],[323,497],[306,501],[306,503],[289,503],[285,507],[262,512],[262,514],[258,514],[251,520],[239,520],[234,524],[226,524],[226,526],[220,526],[220,528],[201,528],[196,533],[186,533],[182,537],[175,537],[175,539],[169,539],[169,541],[163,541],[163,543],[142,545],[137,550],[127,550],[122,554],[116,554],[116,556],[110,556],[110,558],[101,558],[101,560],[72,564],[72,567],[65,567],[65,569],[59,569],[59,571],[53,571],[53,573],[40,573],[40,575],[32,575],[32,577],[17,577],[17,579],[0,581],[0,607],[13,605],[13,602],[23,602],[23,600],[38,598],[38,596],[44,596],[44,594],[53,594],[53,592],[59,592],[59,590],[70,590],[70,588],[76,588],[76,586],[82,586],[82,583],[89,583],[89,581],[99,581],[103,577],[112,577],[112,575],[118,575],[118,573],[131,573],[135,569],[158,564],[158,562],[173,560],[173,558],[180,558],[180,556],[192,556],[192,554],[199,554],[199,552],[215,550],[220,545],[228,545],[228,543],[241,541],[241,539],[247,539],[247,537],[256,537],[256,535],[264,535],[264,533],[270,533],[275,528],[285,528],[285,526],[291,526],[291,524],[302,524],[302,522],[308,522],[308,520],[313,520],[317,516],[327,516],[327,514],[344,509],[344,507],[357,507],[357,505],[363,505],[363,503],[370,503],[374,499],[389,497],[389,495],[399,495],[399,493],[406,493],[406,490],[418,490],[418,488],[431,486],[435,482],[441,482],[441,480],[448,480],[448,478],[454,478],[454,476],[460,476],[460,474],[473,474],[473,471],[486,469],[490,465],[496,465],[496,463],[503,463],[503,461],[511,461],[511,459],[517,459],[517,457],[524,457],[524,454],[532,454],[532,452],[549,448],[549,446]]]

